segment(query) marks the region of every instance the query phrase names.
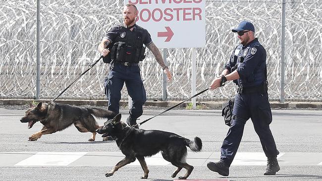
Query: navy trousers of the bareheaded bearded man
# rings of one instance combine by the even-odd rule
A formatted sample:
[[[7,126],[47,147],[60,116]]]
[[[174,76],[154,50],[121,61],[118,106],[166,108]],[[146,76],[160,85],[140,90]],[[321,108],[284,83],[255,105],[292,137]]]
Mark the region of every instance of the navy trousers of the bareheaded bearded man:
[[[108,110],[119,113],[119,101],[121,100],[121,90],[125,83],[126,89],[132,98],[130,116],[137,119],[143,114],[143,104],[147,100],[146,91],[140,75],[139,66],[124,66],[121,64],[111,64],[110,71],[105,78],[105,94],[108,99]],[[109,118],[111,119],[111,118]]]

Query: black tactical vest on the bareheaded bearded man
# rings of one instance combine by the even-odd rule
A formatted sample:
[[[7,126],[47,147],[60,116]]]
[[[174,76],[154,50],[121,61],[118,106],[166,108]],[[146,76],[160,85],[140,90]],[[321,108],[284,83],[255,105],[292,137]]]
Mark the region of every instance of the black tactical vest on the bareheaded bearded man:
[[[145,58],[145,46],[143,46],[143,28],[135,26],[133,31],[118,25],[119,32],[110,45],[105,63],[130,62],[138,63]],[[104,59],[103,59],[104,60]]]

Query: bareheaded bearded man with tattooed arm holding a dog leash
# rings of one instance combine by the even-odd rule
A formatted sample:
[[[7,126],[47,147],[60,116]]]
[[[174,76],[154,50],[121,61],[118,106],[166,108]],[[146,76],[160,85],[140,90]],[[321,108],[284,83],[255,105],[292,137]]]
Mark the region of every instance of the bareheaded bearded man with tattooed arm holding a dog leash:
[[[146,45],[156,57],[169,81],[171,72],[164,64],[162,55],[152,42],[149,32],[135,24],[138,9],[134,4],[126,4],[123,8],[123,25],[113,26],[107,31],[99,52],[104,56],[105,63],[110,63],[109,74],[105,79],[105,94],[108,99],[108,110],[119,113],[121,90],[125,83],[128,94],[132,98],[127,123],[136,125],[136,120],[143,114],[143,104],[146,101],[146,91],[140,75],[138,63],[145,57]],[[111,118],[109,118],[111,119]]]

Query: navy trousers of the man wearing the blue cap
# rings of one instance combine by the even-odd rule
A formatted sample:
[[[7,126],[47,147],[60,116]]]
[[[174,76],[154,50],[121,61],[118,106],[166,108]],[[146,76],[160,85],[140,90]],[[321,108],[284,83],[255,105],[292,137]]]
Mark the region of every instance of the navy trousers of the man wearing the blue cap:
[[[236,94],[233,115],[230,129],[220,149],[220,160],[230,166],[242,139],[245,123],[249,118],[253,122],[255,132],[260,137],[266,156],[276,157],[276,144],[269,129],[272,116],[267,93]]]

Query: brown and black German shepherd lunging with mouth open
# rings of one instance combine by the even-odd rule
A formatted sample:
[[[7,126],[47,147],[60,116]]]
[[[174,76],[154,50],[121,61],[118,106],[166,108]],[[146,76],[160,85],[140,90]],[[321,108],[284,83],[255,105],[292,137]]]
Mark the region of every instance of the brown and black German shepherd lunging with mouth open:
[[[39,102],[36,107],[30,103],[30,108],[26,111],[25,116],[20,119],[20,122],[28,123],[28,129],[32,128],[38,121],[44,125],[41,131],[29,136],[29,141],[36,141],[42,135],[62,131],[72,124],[75,125],[79,132],[91,132],[93,136],[89,141],[94,141],[96,130],[100,126],[93,115],[99,118],[112,118],[116,114],[99,108],[76,107],[55,102]]]

